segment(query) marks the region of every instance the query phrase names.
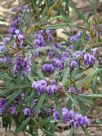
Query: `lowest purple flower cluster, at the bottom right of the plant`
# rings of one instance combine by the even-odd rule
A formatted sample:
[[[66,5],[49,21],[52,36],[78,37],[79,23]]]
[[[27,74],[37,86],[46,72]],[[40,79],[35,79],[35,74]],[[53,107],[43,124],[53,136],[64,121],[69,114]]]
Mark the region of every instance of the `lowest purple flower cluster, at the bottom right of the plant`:
[[[53,118],[56,121],[59,118],[59,114],[57,109],[53,110]],[[74,128],[78,128],[80,126],[87,126],[90,124],[87,116],[83,116],[81,114],[75,113],[73,110],[68,110],[66,108],[62,108],[62,117],[64,123],[70,122],[70,125]]]

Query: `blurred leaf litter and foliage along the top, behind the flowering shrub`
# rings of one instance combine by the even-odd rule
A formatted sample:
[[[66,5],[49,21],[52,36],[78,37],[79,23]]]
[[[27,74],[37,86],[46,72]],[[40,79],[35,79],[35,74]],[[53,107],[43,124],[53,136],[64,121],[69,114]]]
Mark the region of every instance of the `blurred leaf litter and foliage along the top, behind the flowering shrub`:
[[[0,0],[0,34],[7,35],[12,8],[27,5],[35,20],[63,15],[77,25],[96,12],[102,16],[102,0]]]

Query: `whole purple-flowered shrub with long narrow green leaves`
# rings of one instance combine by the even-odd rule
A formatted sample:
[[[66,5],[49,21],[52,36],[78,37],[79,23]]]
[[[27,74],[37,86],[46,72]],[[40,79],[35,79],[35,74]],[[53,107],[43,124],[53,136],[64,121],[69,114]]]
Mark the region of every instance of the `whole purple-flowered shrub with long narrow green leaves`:
[[[53,136],[57,123],[63,122],[70,135],[80,128],[89,135],[87,110],[93,98],[102,97],[96,84],[97,77],[102,80],[102,54],[96,47],[102,42],[102,25],[89,23],[88,33],[80,31],[65,41],[54,32],[69,27],[67,22],[53,24],[49,19],[47,23],[45,18],[33,24],[27,7],[12,12],[8,37],[1,37],[0,42],[0,116],[4,127],[15,124],[15,135],[23,131],[37,136],[40,129]]]

